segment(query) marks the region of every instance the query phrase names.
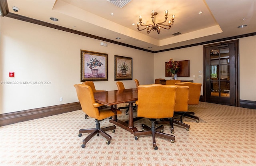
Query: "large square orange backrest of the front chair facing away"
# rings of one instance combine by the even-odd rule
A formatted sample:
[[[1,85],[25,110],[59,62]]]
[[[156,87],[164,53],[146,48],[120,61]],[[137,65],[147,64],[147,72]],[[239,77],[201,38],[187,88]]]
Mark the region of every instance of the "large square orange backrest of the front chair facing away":
[[[175,85],[140,85],[137,116],[151,119],[173,117],[176,89]]]

